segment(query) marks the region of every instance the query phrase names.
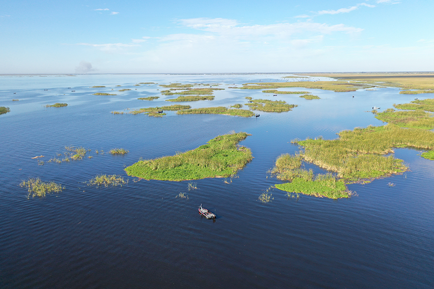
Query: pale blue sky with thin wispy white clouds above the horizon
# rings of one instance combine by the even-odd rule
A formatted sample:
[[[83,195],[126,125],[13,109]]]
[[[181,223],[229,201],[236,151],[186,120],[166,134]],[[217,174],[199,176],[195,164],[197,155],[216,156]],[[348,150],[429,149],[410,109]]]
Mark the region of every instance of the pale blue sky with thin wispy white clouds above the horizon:
[[[433,0],[0,0],[0,74],[434,70]]]

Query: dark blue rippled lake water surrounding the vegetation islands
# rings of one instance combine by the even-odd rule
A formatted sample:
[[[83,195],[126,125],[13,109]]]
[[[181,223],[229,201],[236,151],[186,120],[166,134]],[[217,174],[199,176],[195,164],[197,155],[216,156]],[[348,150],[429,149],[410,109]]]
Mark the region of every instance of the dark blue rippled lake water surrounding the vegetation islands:
[[[282,81],[286,75],[0,76],[0,106],[11,109],[0,116],[0,287],[434,287],[434,161],[421,158],[420,151],[396,149],[395,156],[410,170],[351,184],[349,189],[358,195],[351,199],[288,199],[271,188],[273,201],[258,201],[280,182],[267,173],[276,158],[298,151],[291,140],[334,139],[341,130],[382,125],[367,111],[414,98],[397,88],[286,89],[321,98],[311,101],[298,94],[273,97],[261,90],[228,88]],[[157,84],[135,86],[139,82]],[[259,112],[259,118],[111,114],[173,104],[165,102],[172,96],[159,92],[167,88],[158,86],[170,82],[226,88],[215,91],[213,101],[181,103],[193,108],[245,104],[247,96],[298,107],[279,114]],[[106,88],[90,88],[94,85]],[[132,90],[118,92],[121,88]],[[160,98],[137,100],[147,96]],[[429,94],[420,94],[419,99],[425,98]],[[68,106],[44,107],[54,103]],[[254,157],[235,178],[196,180],[197,189],[189,191],[192,181],[134,181],[124,171],[140,158],[191,150],[230,131],[251,134],[241,144]],[[86,156],[92,158],[48,162],[59,158],[65,146],[91,149]],[[112,156],[108,151],[113,148],[129,153]],[[32,159],[40,155],[45,157]],[[129,183],[86,185],[98,174],[122,175]],[[65,189],[28,200],[19,184],[29,177],[52,180]],[[188,199],[176,198],[180,192]],[[200,204],[216,213],[215,223],[200,217]]]

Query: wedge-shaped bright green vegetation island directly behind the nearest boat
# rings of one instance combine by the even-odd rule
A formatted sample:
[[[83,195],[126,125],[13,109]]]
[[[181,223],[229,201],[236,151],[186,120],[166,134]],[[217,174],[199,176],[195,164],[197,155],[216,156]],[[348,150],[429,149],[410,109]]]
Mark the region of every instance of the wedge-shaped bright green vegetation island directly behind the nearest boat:
[[[250,149],[237,146],[248,135],[240,132],[218,136],[185,153],[140,160],[125,171],[128,175],[144,179],[172,181],[229,177],[252,159]]]

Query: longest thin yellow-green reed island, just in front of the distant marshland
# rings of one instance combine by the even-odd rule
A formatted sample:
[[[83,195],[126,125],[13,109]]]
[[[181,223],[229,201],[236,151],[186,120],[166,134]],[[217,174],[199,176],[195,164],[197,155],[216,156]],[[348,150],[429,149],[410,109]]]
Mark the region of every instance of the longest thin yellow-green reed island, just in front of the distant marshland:
[[[351,83],[348,81],[293,81],[293,82],[259,82],[244,83],[240,89],[271,89],[285,87],[304,87],[333,90],[335,92],[356,91],[361,88],[371,88],[373,85]]]

